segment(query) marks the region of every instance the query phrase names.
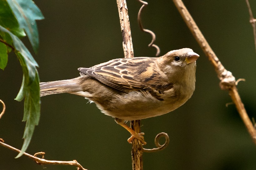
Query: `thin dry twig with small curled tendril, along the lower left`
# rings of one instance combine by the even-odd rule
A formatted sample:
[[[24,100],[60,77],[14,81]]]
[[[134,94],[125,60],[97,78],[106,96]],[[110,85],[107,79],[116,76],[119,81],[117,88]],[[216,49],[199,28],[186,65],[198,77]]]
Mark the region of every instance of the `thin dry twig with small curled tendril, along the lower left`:
[[[15,151],[15,152],[20,152],[19,149],[16,149],[10,145],[7,145],[5,143],[3,143],[3,140],[0,139],[0,145],[8,148],[8,149],[11,149],[12,151]],[[52,164],[52,165],[71,165],[71,166],[76,166],[78,170],[86,170],[85,168],[83,168],[76,160],[73,160],[73,161],[50,161],[50,160],[46,160],[46,159],[43,159],[44,156],[42,156],[42,158],[37,158],[36,156],[39,155],[39,154],[42,154],[44,155],[45,153],[44,152],[38,152],[36,154],[31,155],[31,154],[27,154],[26,152],[23,153],[23,155],[26,155],[28,158],[30,159],[33,159],[34,161],[36,161],[37,164]]]

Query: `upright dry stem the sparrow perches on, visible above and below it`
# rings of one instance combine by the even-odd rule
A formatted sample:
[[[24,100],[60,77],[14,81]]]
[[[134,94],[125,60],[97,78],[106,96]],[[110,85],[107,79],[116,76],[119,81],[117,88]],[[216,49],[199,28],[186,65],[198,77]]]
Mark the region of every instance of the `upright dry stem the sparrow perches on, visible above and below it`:
[[[119,12],[121,31],[123,35],[124,55],[125,55],[125,58],[134,57],[126,0],[116,0],[116,2],[117,2],[118,12]],[[130,127],[135,132],[140,133],[140,120],[130,121]],[[133,139],[132,151],[131,151],[133,170],[143,169],[142,153],[143,153],[143,149],[142,149],[141,142],[137,139]]]

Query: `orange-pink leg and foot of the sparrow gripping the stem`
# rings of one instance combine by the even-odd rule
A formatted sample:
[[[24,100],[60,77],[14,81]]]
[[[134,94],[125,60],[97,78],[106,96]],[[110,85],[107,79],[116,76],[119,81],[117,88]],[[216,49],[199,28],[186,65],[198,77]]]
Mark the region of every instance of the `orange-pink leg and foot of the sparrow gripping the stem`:
[[[142,142],[143,145],[146,145],[147,143],[144,141],[144,137],[142,135],[144,135],[144,133],[137,133],[134,130],[132,130],[129,126],[127,126],[125,124],[125,121],[122,119],[118,119],[115,118],[116,123],[118,123],[119,125],[123,126],[127,131],[130,132],[130,134],[132,135],[127,141],[129,143],[131,143],[131,141],[136,138],[138,140],[140,140]]]

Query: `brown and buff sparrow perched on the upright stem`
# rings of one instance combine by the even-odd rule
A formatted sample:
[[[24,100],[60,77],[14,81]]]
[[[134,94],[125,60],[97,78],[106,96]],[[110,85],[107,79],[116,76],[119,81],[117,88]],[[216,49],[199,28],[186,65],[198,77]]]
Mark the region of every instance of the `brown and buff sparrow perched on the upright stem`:
[[[191,98],[195,90],[196,60],[190,48],[172,50],[161,57],[118,58],[90,68],[78,68],[70,80],[40,83],[40,96],[70,93],[95,103],[102,113],[146,144],[126,121],[169,113]]]

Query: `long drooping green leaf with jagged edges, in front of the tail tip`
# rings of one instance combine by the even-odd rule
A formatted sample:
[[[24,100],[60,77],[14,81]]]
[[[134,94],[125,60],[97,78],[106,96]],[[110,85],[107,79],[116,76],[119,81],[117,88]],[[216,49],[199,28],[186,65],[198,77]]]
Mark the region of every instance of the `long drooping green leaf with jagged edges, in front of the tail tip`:
[[[27,149],[30,140],[32,138],[35,126],[38,125],[40,118],[40,88],[39,88],[39,76],[37,72],[37,62],[32,57],[31,53],[22,43],[22,41],[9,30],[0,26],[0,33],[9,34],[12,38],[15,48],[15,54],[17,55],[23,71],[23,80],[21,89],[16,97],[17,101],[24,101],[24,116],[22,121],[26,121],[24,131],[24,143],[22,145],[21,152],[16,158],[20,157]]]

